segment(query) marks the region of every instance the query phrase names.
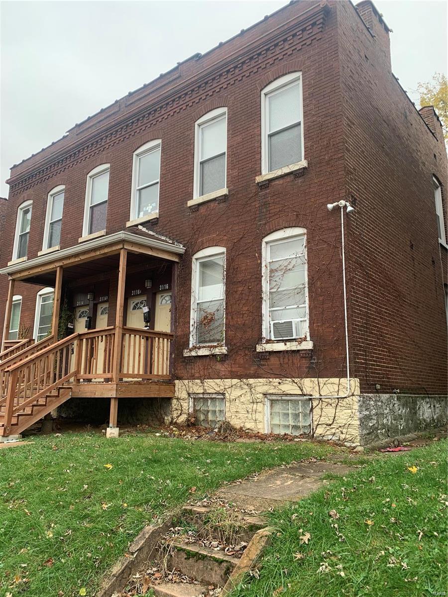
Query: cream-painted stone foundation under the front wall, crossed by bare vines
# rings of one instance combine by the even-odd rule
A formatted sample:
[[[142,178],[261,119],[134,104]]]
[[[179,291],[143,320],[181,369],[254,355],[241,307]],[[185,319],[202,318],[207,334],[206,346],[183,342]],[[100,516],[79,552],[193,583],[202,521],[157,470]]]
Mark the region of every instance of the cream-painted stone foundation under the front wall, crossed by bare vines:
[[[266,433],[266,395],[309,396],[312,400],[312,429],[315,438],[333,439],[346,445],[360,443],[358,429],[358,380],[351,382],[351,395],[346,381],[327,379],[219,379],[177,380],[171,405],[171,416],[182,422],[188,416],[194,394],[213,393],[225,397],[225,420],[235,427]]]

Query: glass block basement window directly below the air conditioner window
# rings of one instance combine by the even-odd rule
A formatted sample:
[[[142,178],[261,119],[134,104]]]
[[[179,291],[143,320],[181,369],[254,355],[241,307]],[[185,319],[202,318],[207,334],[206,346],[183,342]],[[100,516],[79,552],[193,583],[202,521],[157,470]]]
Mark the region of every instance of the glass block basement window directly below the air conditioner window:
[[[283,435],[311,433],[311,400],[288,396],[268,396],[269,432]]]

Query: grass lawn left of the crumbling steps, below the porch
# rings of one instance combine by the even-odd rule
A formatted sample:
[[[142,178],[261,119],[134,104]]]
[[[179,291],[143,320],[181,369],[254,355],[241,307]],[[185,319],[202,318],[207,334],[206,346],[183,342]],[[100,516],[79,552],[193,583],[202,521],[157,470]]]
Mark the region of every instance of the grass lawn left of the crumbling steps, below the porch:
[[[224,481],[332,451],[308,442],[65,433],[0,450],[0,595],[93,596],[146,525]],[[107,466],[106,466],[107,465]]]

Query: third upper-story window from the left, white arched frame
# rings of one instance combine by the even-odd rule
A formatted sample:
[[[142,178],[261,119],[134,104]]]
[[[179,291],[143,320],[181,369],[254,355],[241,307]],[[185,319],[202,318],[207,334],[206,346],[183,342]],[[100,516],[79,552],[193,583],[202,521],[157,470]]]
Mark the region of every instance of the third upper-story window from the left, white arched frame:
[[[109,193],[109,164],[102,164],[87,174],[84,228],[82,236],[106,230]]]

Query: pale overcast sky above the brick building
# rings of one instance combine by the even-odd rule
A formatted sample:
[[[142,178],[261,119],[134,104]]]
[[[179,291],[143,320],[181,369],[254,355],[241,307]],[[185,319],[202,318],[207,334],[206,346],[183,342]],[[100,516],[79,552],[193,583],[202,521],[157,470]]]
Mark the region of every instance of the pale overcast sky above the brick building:
[[[1,2],[0,195],[10,167],[76,122],[286,2]],[[413,100],[447,71],[446,0],[375,2]]]

